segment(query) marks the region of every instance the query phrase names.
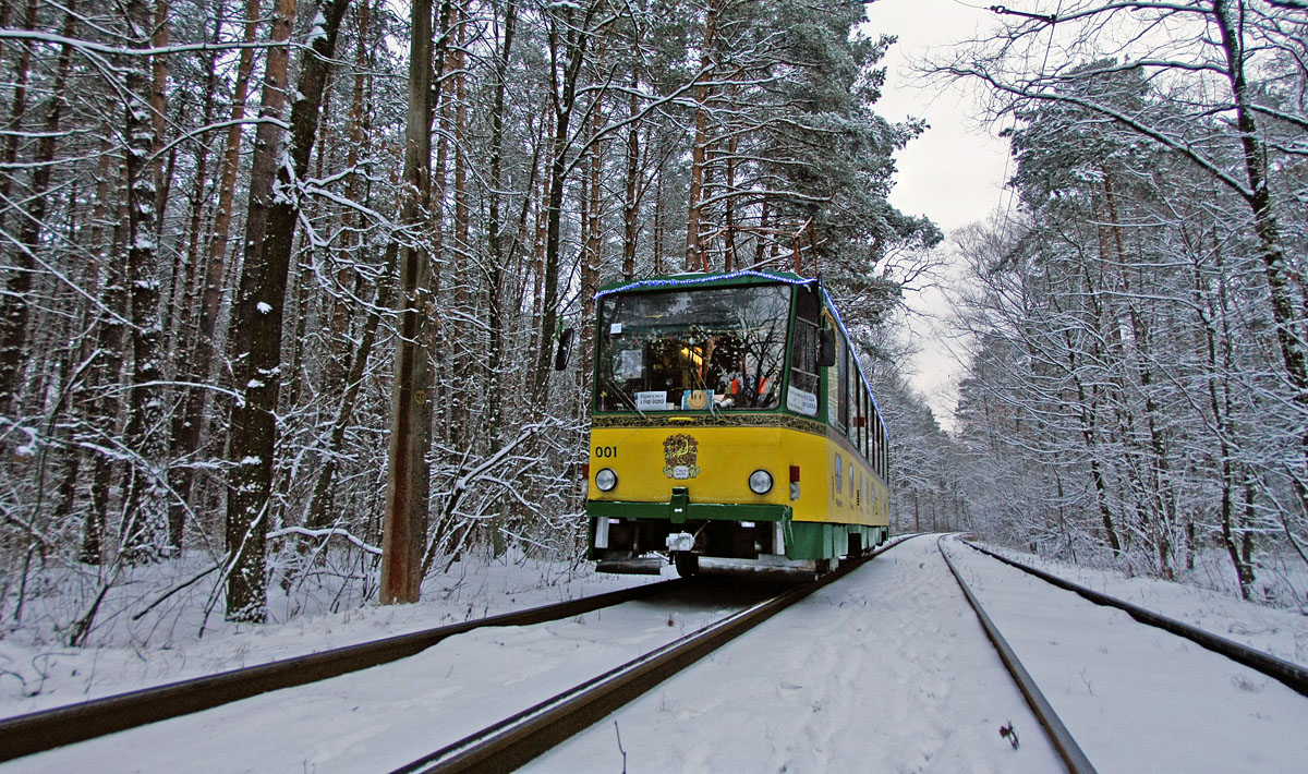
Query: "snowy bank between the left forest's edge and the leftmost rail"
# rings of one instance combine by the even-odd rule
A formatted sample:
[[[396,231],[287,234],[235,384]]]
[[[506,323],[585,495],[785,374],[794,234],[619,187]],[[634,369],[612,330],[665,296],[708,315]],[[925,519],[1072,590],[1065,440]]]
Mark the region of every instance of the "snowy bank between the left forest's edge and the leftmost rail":
[[[157,575],[164,570],[154,566],[144,571]],[[199,601],[133,622],[131,603],[153,599],[139,587],[158,584],[157,578],[144,575],[135,586],[129,579],[115,588],[122,603],[106,603],[95,642],[109,645],[73,648],[58,645],[56,637],[31,631],[0,634],[0,718],[651,580],[658,578],[596,574],[585,564],[573,570],[562,564],[468,557],[429,577],[416,604],[347,605],[337,613],[300,614],[285,624],[258,626],[226,624],[221,609],[204,621],[204,597],[212,583],[199,587]]]

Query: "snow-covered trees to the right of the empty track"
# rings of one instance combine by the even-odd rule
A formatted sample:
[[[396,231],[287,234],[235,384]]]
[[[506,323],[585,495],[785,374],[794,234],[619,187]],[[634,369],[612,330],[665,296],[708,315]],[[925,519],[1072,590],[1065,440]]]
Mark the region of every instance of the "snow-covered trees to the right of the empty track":
[[[1014,158],[1015,207],[956,235],[972,528],[1163,578],[1219,549],[1277,596],[1308,562],[1308,4],[1039,5],[929,65]]]

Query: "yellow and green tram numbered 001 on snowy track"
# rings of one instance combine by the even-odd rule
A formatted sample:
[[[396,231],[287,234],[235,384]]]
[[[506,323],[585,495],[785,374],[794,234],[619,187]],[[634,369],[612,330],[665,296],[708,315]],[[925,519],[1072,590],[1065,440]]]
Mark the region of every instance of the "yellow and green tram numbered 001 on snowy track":
[[[818,280],[674,275],[596,302],[598,570],[812,575],[886,540],[886,426]]]

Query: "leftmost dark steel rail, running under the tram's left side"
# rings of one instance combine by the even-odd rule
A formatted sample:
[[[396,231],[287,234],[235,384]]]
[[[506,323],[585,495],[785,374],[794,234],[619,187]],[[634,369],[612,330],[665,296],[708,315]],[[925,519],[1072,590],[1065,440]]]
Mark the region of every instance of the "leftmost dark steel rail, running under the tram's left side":
[[[687,579],[678,578],[633,586],[8,718],[0,720],[0,761],[387,664],[419,654],[447,637],[483,626],[530,626],[557,621],[674,591],[685,583]]]

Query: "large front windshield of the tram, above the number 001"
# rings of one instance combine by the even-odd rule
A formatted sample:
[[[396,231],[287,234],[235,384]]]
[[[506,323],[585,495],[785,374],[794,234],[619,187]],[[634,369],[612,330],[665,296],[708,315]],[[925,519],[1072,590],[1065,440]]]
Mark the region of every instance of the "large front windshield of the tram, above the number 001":
[[[608,295],[595,411],[777,408],[789,316],[786,285]]]

